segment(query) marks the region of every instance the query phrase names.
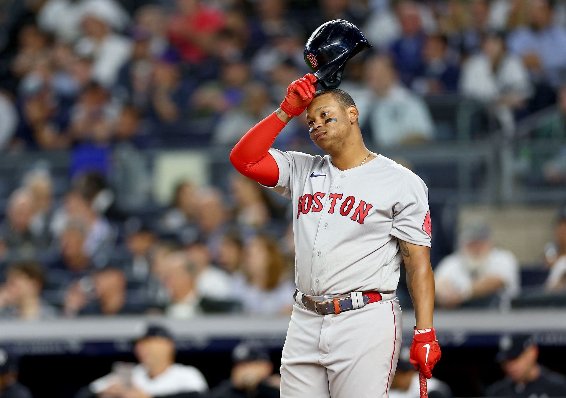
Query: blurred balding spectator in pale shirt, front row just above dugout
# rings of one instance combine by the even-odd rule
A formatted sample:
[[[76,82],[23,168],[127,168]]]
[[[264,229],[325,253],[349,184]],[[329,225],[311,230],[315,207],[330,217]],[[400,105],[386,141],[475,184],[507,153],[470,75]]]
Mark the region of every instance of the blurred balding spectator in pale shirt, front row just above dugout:
[[[196,267],[186,253],[174,252],[164,259],[162,283],[169,293],[165,314],[171,318],[191,318],[200,312],[196,291]]]

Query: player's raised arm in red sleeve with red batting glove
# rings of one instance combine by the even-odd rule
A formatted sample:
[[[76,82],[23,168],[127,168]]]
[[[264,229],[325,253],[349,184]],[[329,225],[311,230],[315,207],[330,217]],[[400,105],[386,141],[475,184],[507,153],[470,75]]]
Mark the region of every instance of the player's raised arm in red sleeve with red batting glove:
[[[277,184],[279,169],[268,150],[289,120],[303,113],[311,103],[315,82],[316,77],[308,73],[289,84],[280,108],[252,127],[232,149],[230,162],[236,170],[268,187]]]

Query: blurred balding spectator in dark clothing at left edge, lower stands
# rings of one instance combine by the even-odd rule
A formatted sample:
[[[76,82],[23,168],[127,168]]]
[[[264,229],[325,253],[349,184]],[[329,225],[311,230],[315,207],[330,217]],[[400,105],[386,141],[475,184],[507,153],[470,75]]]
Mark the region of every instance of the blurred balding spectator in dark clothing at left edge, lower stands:
[[[49,237],[32,230],[36,204],[27,188],[18,188],[10,195],[7,217],[0,224],[0,256],[31,256],[49,244]]]

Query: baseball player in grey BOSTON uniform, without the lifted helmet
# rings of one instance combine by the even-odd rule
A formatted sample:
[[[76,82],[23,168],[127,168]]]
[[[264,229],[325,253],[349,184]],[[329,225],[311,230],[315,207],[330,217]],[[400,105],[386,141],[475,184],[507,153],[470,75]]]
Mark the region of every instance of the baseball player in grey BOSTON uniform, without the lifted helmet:
[[[293,81],[280,108],[230,154],[239,172],[293,202],[297,291],[281,397],[387,397],[401,347],[401,261],[417,321],[410,361],[430,378],[440,358],[427,187],[366,148],[348,93],[315,83],[310,73]],[[271,148],[305,109],[311,140],[328,155]]]

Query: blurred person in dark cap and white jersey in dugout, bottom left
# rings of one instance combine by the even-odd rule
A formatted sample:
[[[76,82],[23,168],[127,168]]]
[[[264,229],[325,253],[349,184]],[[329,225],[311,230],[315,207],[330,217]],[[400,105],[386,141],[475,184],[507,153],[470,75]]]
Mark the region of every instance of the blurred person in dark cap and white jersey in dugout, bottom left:
[[[175,341],[165,327],[149,325],[134,352],[138,365],[117,363],[115,371],[93,381],[76,398],[199,398],[208,390],[196,367],[175,364]]]

